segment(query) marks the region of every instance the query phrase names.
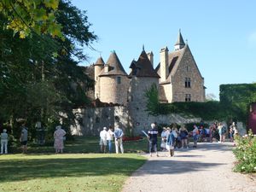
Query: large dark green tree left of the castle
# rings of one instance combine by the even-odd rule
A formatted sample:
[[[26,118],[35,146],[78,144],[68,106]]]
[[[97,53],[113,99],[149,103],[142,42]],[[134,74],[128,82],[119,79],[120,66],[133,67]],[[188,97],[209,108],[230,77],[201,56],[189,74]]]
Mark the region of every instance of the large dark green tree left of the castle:
[[[89,102],[85,91],[93,81],[73,57],[86,59],[81,48],[96,40],[96,35],[90,32],[85,13],[69,1],[59,3],[56,20],[63,25],[64,41],[44,33],[20,38],[18,34],[13,35],[11,29],[4,28],[9,18],[0,14],[2,121],[13,119],[10,122],[15,124],[15,119],[26,119],[28,126],[34,128],[37,120],[49,125],[65,114],[67,122],[73,120],[73,108]]]

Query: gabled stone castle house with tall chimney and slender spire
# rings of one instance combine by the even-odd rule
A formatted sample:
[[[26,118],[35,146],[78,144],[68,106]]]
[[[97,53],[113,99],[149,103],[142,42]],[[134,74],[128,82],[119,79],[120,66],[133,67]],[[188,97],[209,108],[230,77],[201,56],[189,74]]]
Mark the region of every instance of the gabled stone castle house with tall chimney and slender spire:
[[[205,102],[204,78],[196,65],[188,44],[178,33],[175,50],[160,50],[160,102]]]

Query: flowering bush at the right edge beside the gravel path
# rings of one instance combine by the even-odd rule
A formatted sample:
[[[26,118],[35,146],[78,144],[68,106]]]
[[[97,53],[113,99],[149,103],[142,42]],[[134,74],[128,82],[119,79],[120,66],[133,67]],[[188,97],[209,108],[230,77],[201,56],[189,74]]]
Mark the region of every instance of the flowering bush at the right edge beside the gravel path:
[[[256,172],[256,137],[252,130],[244,137],[236,137],[236,172]]]

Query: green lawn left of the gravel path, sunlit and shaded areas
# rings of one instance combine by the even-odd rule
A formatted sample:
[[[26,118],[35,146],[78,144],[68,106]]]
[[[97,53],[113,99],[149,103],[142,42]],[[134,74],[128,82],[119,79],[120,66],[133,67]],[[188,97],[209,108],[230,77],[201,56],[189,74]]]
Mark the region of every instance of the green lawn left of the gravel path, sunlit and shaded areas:
[[[125,154],[99,154],[97,137],[77,137],[67,142],[65,154],[52,146],[31,145],[28,154],[0,156],[1,192],[118,192],[125,179],[146,159],[134,152],[147,150],[147,141],[124,143]],[[94,153],[94,154],[91,154]]]

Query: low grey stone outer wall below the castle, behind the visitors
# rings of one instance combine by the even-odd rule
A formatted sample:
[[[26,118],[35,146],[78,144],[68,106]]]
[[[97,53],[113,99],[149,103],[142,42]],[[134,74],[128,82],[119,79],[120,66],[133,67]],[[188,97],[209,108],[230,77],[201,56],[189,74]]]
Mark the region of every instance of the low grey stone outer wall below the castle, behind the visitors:
[[[201,121],[200,118],[185,119],[178,114],[152,116],[142,110],[131,115],[127,107],[79,108],[73,113],[76,115],[76,125],[71,126],[71,133],[75,136],[99,136],[102,128],[109,125],[119,126],[125,132],[131,128],[134,135],[141,135],[142,130],[148,131],[154,122],[180,125]]]

